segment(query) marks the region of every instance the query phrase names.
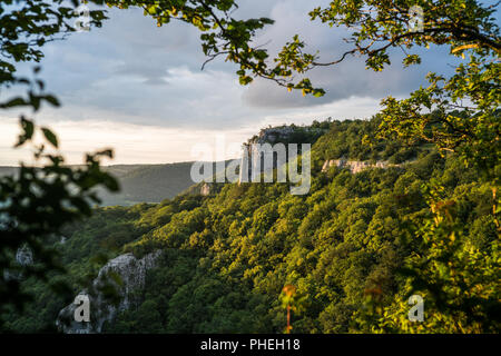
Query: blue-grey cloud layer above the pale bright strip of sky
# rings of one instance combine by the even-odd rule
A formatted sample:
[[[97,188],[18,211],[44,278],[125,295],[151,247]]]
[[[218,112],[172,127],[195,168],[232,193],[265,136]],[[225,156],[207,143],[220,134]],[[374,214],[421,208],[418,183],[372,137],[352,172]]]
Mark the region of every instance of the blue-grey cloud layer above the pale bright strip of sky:
[[[322,2],[322,1],[321,1]],[[323,0],[323,3],[328,1]],[[325,59],[336,58],[346,32],[312,23],[308,1],[247,0],[235,16],[272,17],[275,26],[259,32],[256,43],[268,43],[275,53],[294,33],[302,33],[308,49]],[[112,10],[101,29],[76,33],[47,47],[43,77],[48,89],[63,103],[47,117],[69,120],[96,119],[186,128],[234,128],[288,108],[307,108],[357,97],[381,98],[409,91],[422,82],[428,62],[416,69],[392,67],[383,73],[364,69],[348,58],[337,68],[312,71],[315,85],[327,90],[324,98],[287,93],[272,82],[256,80],[240,87],[237,67],[223,59],[200,72],[205,58],[199,32],[173,22],[158,28],[143,10]]]

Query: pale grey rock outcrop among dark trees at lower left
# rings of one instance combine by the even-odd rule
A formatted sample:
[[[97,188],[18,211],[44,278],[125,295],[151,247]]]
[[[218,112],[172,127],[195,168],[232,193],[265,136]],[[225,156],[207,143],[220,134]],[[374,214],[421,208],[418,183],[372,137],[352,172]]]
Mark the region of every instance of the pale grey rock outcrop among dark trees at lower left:
[[[108,261],[92,281],[91,290],[79,295],[89,298],[90,322],[76,322],[75,312],[79,305],[70,304],[59,312],[56,325],[66,334],[94,334],[102,330],[105,322],[110,322],[117,313],[126,310],[131,304],[131,293],[145,287],[146,273],[157,266],[160,251],[137,259],[132,254],[120,255]],[[107,290],[115,289],[111,303]]]

